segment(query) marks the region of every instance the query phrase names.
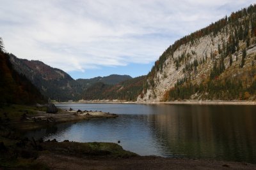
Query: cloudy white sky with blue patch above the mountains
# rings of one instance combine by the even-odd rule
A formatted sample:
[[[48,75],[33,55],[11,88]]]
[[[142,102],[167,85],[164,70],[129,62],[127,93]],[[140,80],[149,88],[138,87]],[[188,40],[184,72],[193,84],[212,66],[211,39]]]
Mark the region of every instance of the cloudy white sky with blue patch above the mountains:
[[[182,38],[255,0],[0,0],[5,50],[72,78],[147,74]]]

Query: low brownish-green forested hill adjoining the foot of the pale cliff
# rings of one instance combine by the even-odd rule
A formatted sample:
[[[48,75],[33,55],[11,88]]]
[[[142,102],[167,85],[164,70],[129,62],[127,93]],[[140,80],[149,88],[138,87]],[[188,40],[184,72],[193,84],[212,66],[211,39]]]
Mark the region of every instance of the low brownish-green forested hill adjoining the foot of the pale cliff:
[[[88,100],[122,100],[136,101],[143,90],[143,83],[146,76],[140,76],[129,80],[121,81],[116,85],[107,85],[97,82],[84,90],[82,98]]]

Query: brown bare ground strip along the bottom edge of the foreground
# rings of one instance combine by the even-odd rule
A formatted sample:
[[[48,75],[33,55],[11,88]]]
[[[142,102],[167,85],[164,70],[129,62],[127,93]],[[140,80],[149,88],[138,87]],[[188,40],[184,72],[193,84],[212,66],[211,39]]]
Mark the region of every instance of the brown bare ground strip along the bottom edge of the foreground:
[[[36,160],[51,169],[256,169],[256,165],[217,160],[166,159],[163,157],[78,158],[48,153]]]

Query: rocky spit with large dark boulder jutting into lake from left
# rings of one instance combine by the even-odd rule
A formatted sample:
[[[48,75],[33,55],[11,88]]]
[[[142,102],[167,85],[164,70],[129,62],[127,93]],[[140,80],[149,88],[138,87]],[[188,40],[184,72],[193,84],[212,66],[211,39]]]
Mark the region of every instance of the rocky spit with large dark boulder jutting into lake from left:
[[[47,106],[10,105],[0,108],[0,123],[14,129],[28,131],[64,122],[79,122],[92,118],[116,118],[118,115],[102,111],[61,110],[47,113]]]

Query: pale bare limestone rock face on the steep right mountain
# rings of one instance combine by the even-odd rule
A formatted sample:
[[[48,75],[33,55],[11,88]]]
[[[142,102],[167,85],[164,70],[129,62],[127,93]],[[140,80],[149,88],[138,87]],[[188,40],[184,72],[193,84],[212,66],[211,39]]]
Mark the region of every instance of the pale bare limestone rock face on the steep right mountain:
[[[150,87],[147,93],[143,97],[143,100],[156,100],[161,101],[164,92],[174,87],[177,80],[181,80],[187,74],[191,75],[192,80],[201,81],[202,76],[208,75],[213,66],[213,60],[211,59],[211,53],[218,53],[218,45],[221,45],[221,38],[227,40],[227,36],[218,34],[218,36],[205,36],[198,39],[195,45],[188,43],[180,46],[173,56],[168,55],[168,58],[164,61],[163,69],[156,71],[154,77],[155,87]],[[178,59],[181,55],[188,57],[188,63],[193,64],[194,60],[202,60],[206,56],[207,64],[197,68],[197,72],[184,73],[183,69],[186,67],[185,63],[180,63],[179,68],[176,67],[175,59]]]

